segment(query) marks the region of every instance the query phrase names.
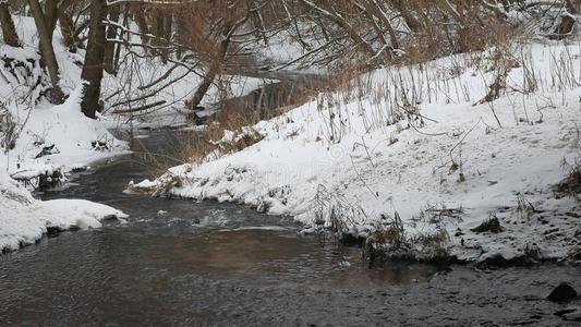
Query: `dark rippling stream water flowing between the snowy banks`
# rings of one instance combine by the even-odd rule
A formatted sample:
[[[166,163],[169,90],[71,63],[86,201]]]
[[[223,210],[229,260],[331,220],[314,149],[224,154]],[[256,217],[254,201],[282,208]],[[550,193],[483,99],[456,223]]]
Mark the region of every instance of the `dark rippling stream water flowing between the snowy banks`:
[[[143,142],[164,152],[172,137]],[[581,290],[574,267],[370,268],[358,249],[301,237],[288,217],[121,192],[150,169],[138,155],[118,158],[43,194],[131,218],[0,256],[0,326],[572,326],[554,313],[581,306],[544,300],[561,280]]]

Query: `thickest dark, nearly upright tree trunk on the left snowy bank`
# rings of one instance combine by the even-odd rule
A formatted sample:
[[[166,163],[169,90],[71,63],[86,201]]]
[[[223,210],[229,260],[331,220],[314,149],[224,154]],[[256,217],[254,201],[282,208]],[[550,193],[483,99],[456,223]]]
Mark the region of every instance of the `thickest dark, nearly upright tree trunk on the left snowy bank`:
[[[105,57],[106,28],[102,23],[107,13],[106,0],[92,0],[90,22],[88,27],[88,43],[85,55],[85,64],[81,78],[85,83],[81,109],[88,118],[96,118],[100,111],[99,98]]]

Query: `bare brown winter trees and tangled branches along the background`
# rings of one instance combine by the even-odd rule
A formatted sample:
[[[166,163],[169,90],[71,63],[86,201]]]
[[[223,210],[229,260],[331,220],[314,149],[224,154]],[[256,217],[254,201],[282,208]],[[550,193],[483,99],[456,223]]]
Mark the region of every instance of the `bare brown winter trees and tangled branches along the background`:
[[[385,63],[423,62],[449,53],[481,50],[522,27],[524,16],[549,13],[537,33],[561,39],[574,28],[578,0],[12,0],[0,2],[2,40],[22,43],[11,14],[34,17],[37,51],[50,81],[47,93],[59,104],[66,95],[55,56],[56,31],[71,52],[85,50],[82,110],[95,118],[104,107],[104,73],[117,75],[132,57],[160,60],[165,71],[155,81],[132,85],[138,97],[125,96],[131,110],[152,108],[142,101],[175,81],[185,68],[202,77],[191,85],[186,109],[199,106],[222,73],[319,65],[367,70]],[[543,22],[547,22],[544,20]],[[301,51],[278,62],[264,60],[265,47],[290,38]],[[32,45],[27,45],[32,46]],[[283,49],[281,49],[283,51]],[[123,76],[121,76],[123,77]],[[128,94],[132,94],[128,92]]]

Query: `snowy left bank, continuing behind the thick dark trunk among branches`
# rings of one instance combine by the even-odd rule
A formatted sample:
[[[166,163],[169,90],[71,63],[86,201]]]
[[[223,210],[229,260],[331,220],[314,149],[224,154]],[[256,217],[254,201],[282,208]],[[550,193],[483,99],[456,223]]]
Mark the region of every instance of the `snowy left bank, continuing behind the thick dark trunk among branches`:
[[[120,210],[89,202],[41,202],[31,192],[66,183],[71,172],[128,154],[129,144],[116,138],[109,130],[184,124],[189,113],[184,110],[184,100],[195,92],[193,85],[202,81],[190,74],[187,68],[171,68],[159,59],[134,59],[131,64],[140,68],[138,80],[143,84],[155,86],[154,82],[165,72],[174,83],[162,90],[145,87],[128,95],[125,83],[134,81],[106,73],[101,96],[104,112],[97,120],[90,120],[80,108],[85,50],[66,48],[60,28],[55,31],[52,46],[60,66],[60,86],[69,98],[61,106],[50,105],[46,100],[50,83],[39,64],[34,20],[20,15],[13,19],[22,47],[0,44],[0,252],[35,243],[50,231],[96,228],[107,217],[124,217]],[[121,65],[120,72],[131,71],[131,64]],[[218,87],[218,83],[213,84],[201,104],[208,107],[207,114],[215,112],[210,105],[218,99],[243,96],[273,81],[223,75],[221,83],[225,89]],[[150,102],[165,105],[150,110],[112,113]]]

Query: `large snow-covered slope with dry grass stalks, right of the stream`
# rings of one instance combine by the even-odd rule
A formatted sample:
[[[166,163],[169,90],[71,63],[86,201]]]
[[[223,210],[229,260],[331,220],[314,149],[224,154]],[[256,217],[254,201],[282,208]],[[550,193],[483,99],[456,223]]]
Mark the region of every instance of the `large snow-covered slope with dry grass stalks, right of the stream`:
[[[580,56],[577,44],[533,44],[501,60],[491,50],[378,70],[259,122],[253,146],[133,186],[172,183],[172,196],[239,202],[313,229],[341,220],[361,235],[399,216],[406,238],[449,238],[459,259],[570,257],[581,205],[554,186],[581,155]],[[498,97],[483,100],[495,84]]]

